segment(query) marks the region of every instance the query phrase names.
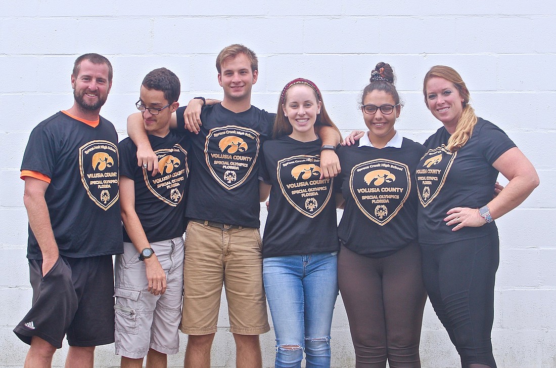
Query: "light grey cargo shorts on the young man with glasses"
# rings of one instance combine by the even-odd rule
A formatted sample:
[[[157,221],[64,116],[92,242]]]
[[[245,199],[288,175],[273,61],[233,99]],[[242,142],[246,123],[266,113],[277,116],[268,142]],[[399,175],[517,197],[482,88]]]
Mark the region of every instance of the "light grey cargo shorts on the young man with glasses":
[[[116,354],[142,358],[152,348],[162,354],[176,354],[180,347],[177,328],[183,293],[183,239],[151,243],[166,273],[166,292],[152,295],[148,289],[145,262],[132,243],[123,243],[116,256]]]

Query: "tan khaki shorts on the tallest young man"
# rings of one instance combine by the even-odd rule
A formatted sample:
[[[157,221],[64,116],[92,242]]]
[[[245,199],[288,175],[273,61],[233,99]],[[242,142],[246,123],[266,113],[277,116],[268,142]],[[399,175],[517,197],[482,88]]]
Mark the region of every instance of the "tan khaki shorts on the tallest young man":
[[[183,333],[208,335],[217,331],[222,284],[230,332],[260,335],[270,331],[259,229],[221,229],[190,221],[185,238],[183,283],[180,325]]]

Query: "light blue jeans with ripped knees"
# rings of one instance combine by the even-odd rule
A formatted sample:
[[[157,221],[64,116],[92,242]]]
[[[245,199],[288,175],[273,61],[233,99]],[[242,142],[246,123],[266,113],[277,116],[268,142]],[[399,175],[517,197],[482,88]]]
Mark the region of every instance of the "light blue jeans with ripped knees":
[[[330,367],[330,328],[338,296],[337,252],[265,258],[266,298],[278,367]]]

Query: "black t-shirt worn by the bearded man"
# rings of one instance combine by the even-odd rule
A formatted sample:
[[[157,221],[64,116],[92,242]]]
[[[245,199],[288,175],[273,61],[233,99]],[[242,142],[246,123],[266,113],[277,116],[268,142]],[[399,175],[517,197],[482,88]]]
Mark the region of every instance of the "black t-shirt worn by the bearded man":
[[[114,126],[103,117],[92,127],[61,111],[29,136],[21,170],[51,178],[44,199],[63,256],[123,253],[117,142]],[[27,258],[42,259],[31,227]]]

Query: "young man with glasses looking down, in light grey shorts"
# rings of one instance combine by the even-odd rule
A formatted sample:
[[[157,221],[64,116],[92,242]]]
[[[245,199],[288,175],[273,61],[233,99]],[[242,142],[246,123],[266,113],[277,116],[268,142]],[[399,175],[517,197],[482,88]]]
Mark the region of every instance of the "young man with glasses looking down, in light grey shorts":
[[[166,68],[148,73],[141,85],[141,111],[158,173],[137,165],[137,146],[120,142],[120,202],[123,254],[114,268],[116,354],[121,367],[165,368],[180,345],[183,238],[189,138],[170,131],[179,106],[180,80]]]

